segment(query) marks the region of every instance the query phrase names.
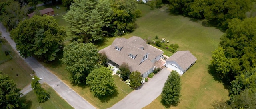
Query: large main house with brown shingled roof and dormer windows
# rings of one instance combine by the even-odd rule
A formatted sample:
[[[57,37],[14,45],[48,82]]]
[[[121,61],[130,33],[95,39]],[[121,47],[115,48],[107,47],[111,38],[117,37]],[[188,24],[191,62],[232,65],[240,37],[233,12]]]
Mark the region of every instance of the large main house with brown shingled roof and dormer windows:
[[[162,50],[148,45],[143,39],[137,36],[125,38],[116,38],[112,45],[100,50],[105,52],[108,57],[106,64],[114,66],[116,72],[119,66],[126,62],[129,65],[130,72],[139,71],[143,78],[152,73],[158,60],[164,53]]]

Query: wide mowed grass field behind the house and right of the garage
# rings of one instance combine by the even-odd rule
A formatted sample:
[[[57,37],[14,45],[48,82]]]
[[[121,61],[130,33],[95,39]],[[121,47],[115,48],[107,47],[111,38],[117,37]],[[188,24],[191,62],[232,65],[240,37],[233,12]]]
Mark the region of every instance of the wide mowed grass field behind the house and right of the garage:
[[[189,50],[196,56],[196,63],[181,76],[181,97],[177,109],[208,109],[217,99],[229,99],[228,90],[222,83],[208,73],[212,51],[218,47],[224,34],[206,21],[170,14],[167,7],[150,10],[149,6],[139,4],[143,16],[138,18],[137,29],[125,37],[133,35],[144,39],[165,38],[170,43],[178,43],[178,50]],[[159,96],[145,109],[166,108]]]

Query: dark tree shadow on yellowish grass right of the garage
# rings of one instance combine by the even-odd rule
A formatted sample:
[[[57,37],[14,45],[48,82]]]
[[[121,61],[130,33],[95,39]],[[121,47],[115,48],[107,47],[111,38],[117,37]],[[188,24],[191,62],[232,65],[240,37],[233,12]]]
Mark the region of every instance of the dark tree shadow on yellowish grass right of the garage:
[[[212,65],[208,65],[208,73],[214,78],[214,80],[222,83],[225,89],[229,90],[229,83],[225,82],[219,73],[217,73],[216,69]]]

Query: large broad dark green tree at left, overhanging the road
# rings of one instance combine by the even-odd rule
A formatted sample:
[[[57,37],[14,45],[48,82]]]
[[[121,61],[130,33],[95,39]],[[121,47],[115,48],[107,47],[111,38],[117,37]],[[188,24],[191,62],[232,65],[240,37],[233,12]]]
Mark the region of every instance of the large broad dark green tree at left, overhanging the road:
[[[66,37],[66,31],[58,26],[52,16],[34,15],[20,22],[10,35],[22,57],[36,56],[44,61],[52,61]]]

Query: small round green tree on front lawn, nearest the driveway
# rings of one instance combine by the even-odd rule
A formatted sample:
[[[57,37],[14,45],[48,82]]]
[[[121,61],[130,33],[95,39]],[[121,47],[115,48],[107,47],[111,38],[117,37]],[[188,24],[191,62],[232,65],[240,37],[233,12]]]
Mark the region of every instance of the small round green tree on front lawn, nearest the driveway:
[[[99,98],[113,94],[116,89],[112,71],[106,67],[93,70],[86,77],[86,84],[90,85],[93,95]]]

